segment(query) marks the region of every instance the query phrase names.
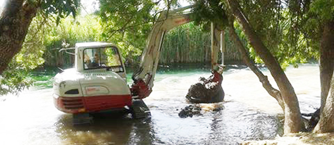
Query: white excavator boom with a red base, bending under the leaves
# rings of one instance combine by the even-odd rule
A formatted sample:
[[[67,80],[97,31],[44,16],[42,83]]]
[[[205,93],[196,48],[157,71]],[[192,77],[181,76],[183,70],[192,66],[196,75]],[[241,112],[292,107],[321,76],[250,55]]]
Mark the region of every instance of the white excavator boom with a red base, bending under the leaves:
[[[133,97],[143,99],[148,97],[152,92],[153,80],[158,67],[164,36],[168,30],[193,21],[190,18],[191,12],[185,12],[185,10],[192,7],[187,6],[160,13],[148,37],[139,69],[132,76],[134,83],[130,89]],[[217,36],[215,35],[214,37]]]

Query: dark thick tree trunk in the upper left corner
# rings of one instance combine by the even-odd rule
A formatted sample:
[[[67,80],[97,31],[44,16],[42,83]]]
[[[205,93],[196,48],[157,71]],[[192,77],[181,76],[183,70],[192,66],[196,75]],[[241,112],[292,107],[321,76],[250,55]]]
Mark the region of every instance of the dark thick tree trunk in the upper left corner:
[[[0,74],[21,50],[36,11],[26,0],[7,0],[0,16]]]

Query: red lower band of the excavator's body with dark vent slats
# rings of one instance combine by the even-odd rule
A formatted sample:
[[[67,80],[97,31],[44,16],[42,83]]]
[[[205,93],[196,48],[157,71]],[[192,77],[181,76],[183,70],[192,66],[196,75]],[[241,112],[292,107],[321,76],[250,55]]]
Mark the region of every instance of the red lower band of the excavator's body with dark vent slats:
[[[131,95],[54,98],[56,107],[65,113],[98,112],[132,105]]]

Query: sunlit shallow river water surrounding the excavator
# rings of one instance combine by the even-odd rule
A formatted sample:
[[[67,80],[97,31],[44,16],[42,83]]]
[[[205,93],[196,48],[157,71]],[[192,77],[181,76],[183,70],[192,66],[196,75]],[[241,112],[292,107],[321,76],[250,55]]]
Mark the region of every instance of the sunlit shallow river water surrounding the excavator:
[[[273,87],[275,83],[265,68]],[[286,74],[301,112],[320,104],[318,64],[288,67]],[[91,125],[72,125],[72,115],[58,111],[52,89],[30,88],[19,96],[0,97],[0,145],[238,145],[243,140],[281,135],[282,110],[249,69],[228,66],[222,83],[225,102],[201,104],[202,115],[180,118],[188,88],[207,69],[161,69],[152,94],[144,99],[151,119],[136,120],[121,112],[102,114]],[[223,108],[213,111],[214,108]]]

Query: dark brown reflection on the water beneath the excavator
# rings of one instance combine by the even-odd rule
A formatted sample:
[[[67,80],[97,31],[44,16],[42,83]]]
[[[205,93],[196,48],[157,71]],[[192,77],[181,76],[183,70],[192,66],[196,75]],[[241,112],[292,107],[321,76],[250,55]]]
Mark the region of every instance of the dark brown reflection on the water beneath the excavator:
[[[94,122],[73,125],[72,115],[63,114],[55,124],[63,145],[151,145],[150,119],[132,119],[122,111],[94,114]]]

